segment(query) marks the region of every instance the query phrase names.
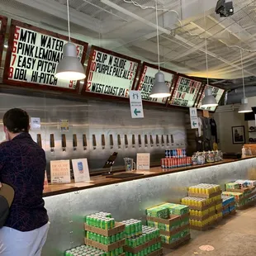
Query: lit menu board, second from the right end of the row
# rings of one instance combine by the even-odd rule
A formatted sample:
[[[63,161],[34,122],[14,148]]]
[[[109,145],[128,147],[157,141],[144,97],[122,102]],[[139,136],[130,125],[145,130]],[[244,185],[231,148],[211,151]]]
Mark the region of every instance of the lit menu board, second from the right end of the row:
[[[179,76],[169,104],[181,107],[193,107],[200,88],[201,82],[185,76]]]

